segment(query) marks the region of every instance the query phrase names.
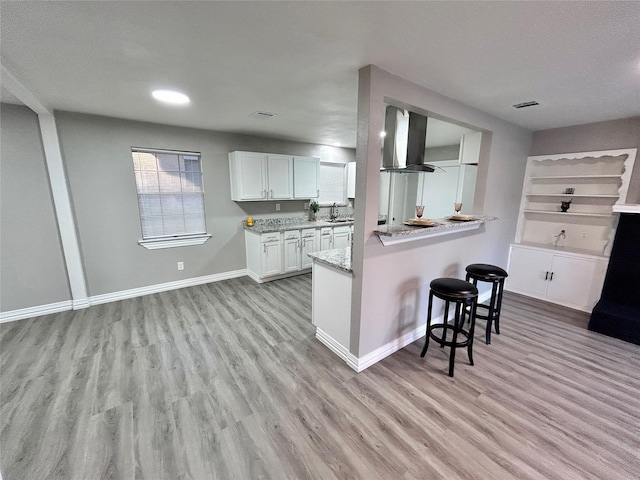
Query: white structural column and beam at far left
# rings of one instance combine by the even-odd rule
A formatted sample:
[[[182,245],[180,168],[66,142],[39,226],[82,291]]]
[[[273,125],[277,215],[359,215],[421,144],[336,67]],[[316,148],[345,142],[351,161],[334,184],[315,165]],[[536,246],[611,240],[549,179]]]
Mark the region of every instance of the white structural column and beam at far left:
[[[3,87],[38,114],[42,146],[71,288],[72,305],[74,310],[86,308],[90,305],[89,295],[55,117],[51,109],[36,98],[4,65],[0,66],[0,71]]]

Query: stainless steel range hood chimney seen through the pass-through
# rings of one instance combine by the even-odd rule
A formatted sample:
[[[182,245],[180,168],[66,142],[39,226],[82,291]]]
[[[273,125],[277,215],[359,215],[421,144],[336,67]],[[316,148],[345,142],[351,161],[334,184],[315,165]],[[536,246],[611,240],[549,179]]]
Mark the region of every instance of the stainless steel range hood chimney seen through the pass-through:
[[[433,172],[424,163],[427,117],[388,105],[384,128],[387,135],[382,149],[382,168],[386,172]]]

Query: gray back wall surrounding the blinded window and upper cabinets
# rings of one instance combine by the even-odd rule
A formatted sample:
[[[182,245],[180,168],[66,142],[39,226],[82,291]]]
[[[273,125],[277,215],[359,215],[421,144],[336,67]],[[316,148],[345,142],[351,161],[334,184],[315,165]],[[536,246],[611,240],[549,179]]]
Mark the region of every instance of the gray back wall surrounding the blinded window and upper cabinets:
[[[56,112],[75,209],[89,295],[246,268],[242,220],[247,215],[302,215],[303,202],[233,202],[228,153],[234,150],[352,160],[335,147]],[[146,250],[141,238],[131,147],[202,154],[208,232],[205,244]],[[178,271],[176,263],[184,262]]]

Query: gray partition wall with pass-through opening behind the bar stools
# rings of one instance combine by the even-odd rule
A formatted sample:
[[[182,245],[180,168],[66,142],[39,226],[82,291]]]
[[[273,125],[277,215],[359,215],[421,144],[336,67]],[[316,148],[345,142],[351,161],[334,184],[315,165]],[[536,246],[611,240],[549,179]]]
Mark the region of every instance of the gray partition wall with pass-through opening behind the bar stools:
[[[384,247],[377,227],[380,145],[387,99],[488,132],[478,177],[481,211],[499,220],[481,230]],[[531,132],[475,110],[375,66],[360,71],[350,351],[358,357],[422,328],[429,282],[463,277],[469,263],[506,266],[513,242]],[[482,188],[485,186],[486,188]]]

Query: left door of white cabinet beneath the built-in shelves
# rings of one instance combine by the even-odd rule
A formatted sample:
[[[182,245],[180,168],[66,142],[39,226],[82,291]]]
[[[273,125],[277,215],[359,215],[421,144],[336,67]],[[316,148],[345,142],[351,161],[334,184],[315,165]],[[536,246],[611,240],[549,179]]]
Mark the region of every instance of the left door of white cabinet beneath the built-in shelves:
[[[552,260],[553,254],[548,252],[511,247],[507,290],[537,296],[546,295]]]

